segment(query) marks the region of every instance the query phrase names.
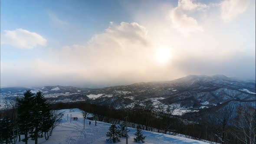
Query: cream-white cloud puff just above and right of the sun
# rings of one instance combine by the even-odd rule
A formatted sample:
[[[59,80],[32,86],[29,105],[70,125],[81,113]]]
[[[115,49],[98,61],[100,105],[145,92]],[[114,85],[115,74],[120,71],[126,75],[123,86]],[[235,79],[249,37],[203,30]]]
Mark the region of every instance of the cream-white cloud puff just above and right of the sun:
[[[193,17],[187,16],[179,7],[171,10],[171,21],[175,29],[184,34],[192,32],[203,31],[203,28],[198,25],[197,20]]]

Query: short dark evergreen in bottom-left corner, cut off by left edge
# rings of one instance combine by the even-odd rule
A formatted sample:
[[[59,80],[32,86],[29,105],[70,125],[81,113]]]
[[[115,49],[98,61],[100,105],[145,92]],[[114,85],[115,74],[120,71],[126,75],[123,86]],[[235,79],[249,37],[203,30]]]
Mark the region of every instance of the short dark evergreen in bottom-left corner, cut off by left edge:
[[[9,118],[0,119],[0,143],[10,144],[13,139],[12,122]]]

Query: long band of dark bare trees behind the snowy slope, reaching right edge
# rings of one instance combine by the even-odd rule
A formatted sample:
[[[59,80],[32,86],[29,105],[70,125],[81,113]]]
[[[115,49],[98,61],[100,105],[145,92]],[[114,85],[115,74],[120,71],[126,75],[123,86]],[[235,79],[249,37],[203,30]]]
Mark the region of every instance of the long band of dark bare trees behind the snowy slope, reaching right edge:
[[[152,108],[143,109],[114,109],[87,102],[56,103],[53,109],[79,108],[95,114],[98,121],[119,124],[128,116],[128,125],[147,131],[164,134],[184,134],[185,137],[213,141],[221,144],[255,144],[256,118],[255,105],[240,105],[236,108],[222,105],[223,108],[211,109],[202,115],[188,113],[188,115],[174,116],[173,109],[167,108],[156,114]],[[189,121],[187,121],[189,120]]]

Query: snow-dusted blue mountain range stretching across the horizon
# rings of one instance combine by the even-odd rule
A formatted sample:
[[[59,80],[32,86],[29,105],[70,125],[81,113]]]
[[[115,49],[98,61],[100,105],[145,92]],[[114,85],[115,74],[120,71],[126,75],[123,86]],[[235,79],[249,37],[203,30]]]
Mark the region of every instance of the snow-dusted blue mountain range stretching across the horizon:
[[[10,89],[9,89],[10,90]],[[7,98],[22,95],[22,90],[1,88]],[[56,102],[86,101],[112,108],[158,109],[162,105],[177,108],[177,115],[184,112],[210,108],[227,101],[255,101],[255,82],[242,81],[225,75],[188,75],[166,82],[139,82],[106,88],[76,88],[71,86],[45,86],[40,89],[46,98]],[[18,91],[18,92],[17,92]]]

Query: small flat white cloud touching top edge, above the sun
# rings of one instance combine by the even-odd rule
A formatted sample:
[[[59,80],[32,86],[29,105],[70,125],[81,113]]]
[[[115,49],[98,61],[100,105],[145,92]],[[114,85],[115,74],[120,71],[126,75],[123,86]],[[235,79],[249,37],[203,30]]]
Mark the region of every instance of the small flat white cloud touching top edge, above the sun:
[[[209,6],[202,3],[193,3],[193,0],[179,0],[178,7],[181,7],[183,10],[203,10]]]

